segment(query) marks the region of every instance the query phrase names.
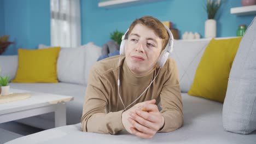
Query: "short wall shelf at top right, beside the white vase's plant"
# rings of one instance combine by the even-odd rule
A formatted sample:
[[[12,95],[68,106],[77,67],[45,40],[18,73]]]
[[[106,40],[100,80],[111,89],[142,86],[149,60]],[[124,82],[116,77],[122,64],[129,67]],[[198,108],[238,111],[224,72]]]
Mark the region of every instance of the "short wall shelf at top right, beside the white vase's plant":
[[[256,5],[249,5],[249,6],[245,6],[245,7],[231,8],[230,13],[235,14],[237,16],[256,15]]]

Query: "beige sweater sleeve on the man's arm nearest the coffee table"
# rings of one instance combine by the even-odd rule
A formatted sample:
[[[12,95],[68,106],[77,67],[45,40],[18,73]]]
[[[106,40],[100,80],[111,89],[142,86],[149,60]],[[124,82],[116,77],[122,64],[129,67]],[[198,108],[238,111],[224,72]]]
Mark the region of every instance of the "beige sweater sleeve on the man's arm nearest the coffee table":
[[[89,74],[81,118],[83,131],[117,134],[118,131],[124,129],[121,122],[123,110],[106,112],[109,88],[109,83],[97,73],[96,69],[92,68]]]

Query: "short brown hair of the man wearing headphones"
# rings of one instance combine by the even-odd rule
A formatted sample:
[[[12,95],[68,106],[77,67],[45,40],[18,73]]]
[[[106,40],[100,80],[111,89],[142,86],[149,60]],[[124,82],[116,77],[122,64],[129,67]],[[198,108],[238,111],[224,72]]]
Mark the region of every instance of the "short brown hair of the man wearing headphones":
[[[141,24],[152,29],[155,32],[155,34],[162,39],[162,45],[163,45],[162,50],[165,48],[170,36],[168,35],[168,32],[164,24],[162,24],[162,22],[160,22],[158,19],[156,19],[153,16],[143,16],[132,22],[131,26],[129,27],[129,31],[128,31],[129,34],[137,24]]]

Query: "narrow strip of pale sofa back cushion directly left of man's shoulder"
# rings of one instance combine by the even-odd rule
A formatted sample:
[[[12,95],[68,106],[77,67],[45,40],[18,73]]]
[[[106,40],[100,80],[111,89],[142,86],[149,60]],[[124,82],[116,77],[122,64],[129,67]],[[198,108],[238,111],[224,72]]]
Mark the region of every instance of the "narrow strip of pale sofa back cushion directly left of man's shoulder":
[[[94,63],[97,62],[98,57],[101,56],[101,47],[95,45],[94,43],[88,43],[85,45],[85,56],[84,56],[84,81],[87,85],[88,75],[90,69]]]

